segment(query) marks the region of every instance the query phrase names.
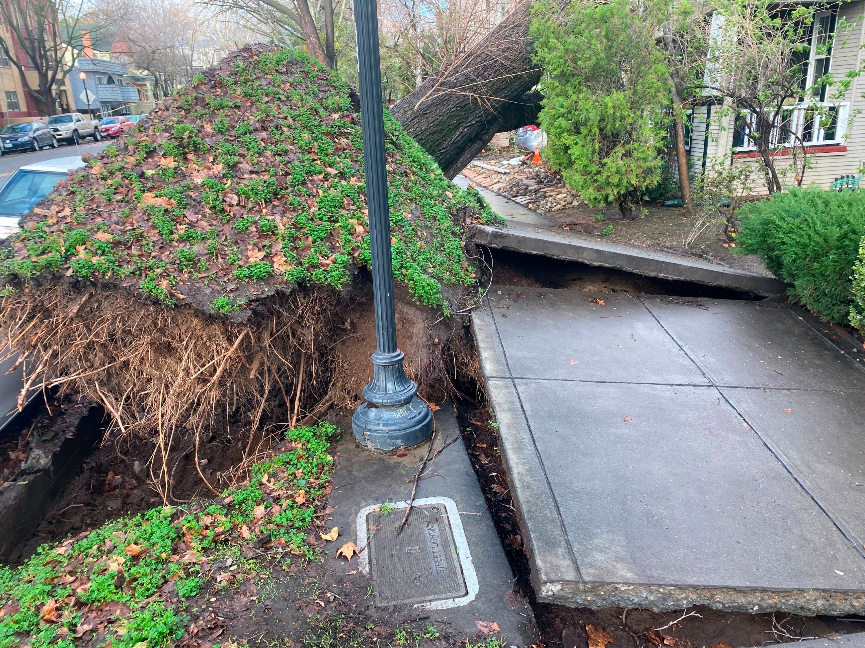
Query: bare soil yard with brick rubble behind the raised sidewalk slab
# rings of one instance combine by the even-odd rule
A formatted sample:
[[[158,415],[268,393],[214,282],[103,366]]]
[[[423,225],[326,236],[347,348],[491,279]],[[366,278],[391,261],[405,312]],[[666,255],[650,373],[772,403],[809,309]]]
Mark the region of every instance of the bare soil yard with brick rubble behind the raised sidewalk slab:
[[[512,157],[509,152],[496,151],[480,159],[497,164]],[[545,214],[561,232],[588,234],[612,243],[700,258],[760,275],[770,274],[758,257],[735,251],[733,237],[727,236],[726,213],[712,213],[702,219],[702,214],[686,215],[682,207],[644,204],[635,206],[634,219],[626,220],[615,207],[590,207],[581,200],[574,205],[573,200],[579,194],[565,187],[561,175],[542,164],[512,167],[509,175],[470,166],[463,170],[463,175],[481,187]],[[558,198],[562,195],[563,198]]]

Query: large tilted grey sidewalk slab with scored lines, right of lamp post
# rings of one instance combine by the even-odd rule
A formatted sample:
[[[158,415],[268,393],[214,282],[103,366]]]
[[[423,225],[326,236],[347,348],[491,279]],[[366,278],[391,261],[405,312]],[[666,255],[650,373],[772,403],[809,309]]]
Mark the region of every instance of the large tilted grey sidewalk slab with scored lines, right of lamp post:
[[[865,612],[865,370],[798,314],[494,287],[472,324],[540,600]]]

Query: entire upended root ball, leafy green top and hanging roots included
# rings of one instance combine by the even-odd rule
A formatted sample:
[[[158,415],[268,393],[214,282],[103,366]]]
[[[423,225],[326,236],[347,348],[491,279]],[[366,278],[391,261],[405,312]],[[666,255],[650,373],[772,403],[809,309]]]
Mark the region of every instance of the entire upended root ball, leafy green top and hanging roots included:
[[[71,172],[0,248],[22,400],[57,385],[99,400],[112,434],[151,439],[167,500],[170,455],[204,435],[248,457],[263,423],[356,399],[375,343],[359,122],[335,73],[247,47]],[[386,131],[400,345],[441,397],[473,366],[449,317],[479,293],[463,228],[496,217],[387,116]]]

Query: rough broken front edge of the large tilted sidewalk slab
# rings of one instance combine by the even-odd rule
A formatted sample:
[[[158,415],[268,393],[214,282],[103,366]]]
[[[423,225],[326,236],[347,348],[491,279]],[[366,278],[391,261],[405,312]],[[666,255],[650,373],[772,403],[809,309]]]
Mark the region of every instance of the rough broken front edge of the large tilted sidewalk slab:
[[[702,605],[723,612],[787,612],[804,616],[865,613],[865,594],[823,589],[776,590],[636,585],[627,583],[544,582],[539,601],[568,607],[627,607],[670,612]]]

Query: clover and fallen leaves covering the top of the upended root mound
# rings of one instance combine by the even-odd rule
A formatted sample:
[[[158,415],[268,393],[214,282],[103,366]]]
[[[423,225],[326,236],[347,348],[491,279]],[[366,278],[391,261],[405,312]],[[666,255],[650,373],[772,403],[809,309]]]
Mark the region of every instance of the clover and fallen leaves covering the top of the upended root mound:
[[[0,249],[0,276],[107,278],[221,314],[292,283],[341,288],[370,263],[353,110],[306,54],[244,48],[61,181]],[[461,226],[497,216],[387,111],[385,130],[394,277],[447,314],[443,286],[477,285]]]

